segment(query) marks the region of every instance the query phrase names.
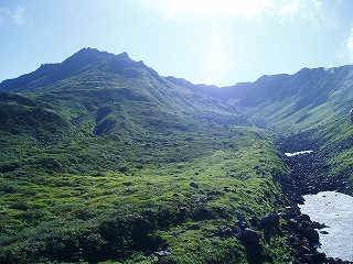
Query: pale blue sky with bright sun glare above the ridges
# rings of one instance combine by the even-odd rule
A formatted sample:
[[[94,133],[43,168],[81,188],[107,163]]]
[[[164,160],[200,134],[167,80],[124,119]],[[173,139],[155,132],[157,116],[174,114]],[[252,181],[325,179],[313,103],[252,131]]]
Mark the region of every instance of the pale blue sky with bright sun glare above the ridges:
[[[0,81],[83,47],[232,86],[353,64],[353,1],[0,0]]]

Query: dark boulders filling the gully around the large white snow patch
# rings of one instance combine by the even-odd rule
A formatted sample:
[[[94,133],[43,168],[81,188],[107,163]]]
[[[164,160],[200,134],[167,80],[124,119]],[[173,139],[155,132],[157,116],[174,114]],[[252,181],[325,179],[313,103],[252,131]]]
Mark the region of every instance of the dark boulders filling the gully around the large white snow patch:
[[[290,143],[300,145],[300,138]],[[288,146],[288,142],[282,144]],[[310,142],[302,148],[307,150]],[[315,143],[311,143],[314,150]],[[288,174],[276,175],[274,177],[281,187],[284,194],[287,196],[290,207],[287,211],[281,213],[281,218],[286,220],[281,228],[291,233],[288,239],[288,245],[293,250],[295,260],[290,263],[296,264],[338,264],[338,263],[353,263],[342,261],[340,258],[327,257],[324,253],[318,252],[315,245],[319,243],[318,229],[324,224],[313,222],[310,217],[300,212],[298,204],[303,204],[303,195],[318,194],[319,191],[336,190],[343,194],[352,195],[352,186],[346,175],[338,175],[335,177],[327,177],[325,172],[329,170],[327,163],[327,153],[320,150],[311,154],[302,154],[297,156],[284,157],[290,170]],[[270,229],[274,220],[271,218],[264,218],[261,224],[265,229]],[[266,232],[265,232],[266,233]],[[288,260],[287,260],[288,261]]]

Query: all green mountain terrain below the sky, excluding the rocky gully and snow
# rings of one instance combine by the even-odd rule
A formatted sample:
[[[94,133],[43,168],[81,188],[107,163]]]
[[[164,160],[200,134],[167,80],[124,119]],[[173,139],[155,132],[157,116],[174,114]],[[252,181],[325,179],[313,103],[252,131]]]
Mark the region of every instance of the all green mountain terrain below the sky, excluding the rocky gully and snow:
[[[274,177],[288,172],[280,151],[302,145],[279,146],[277,133],[306,135],[330,153],[332,177],[350,175],[351,75],[302,69],[218,88],[84,48],[2,81],[0,263],[297,257]]]

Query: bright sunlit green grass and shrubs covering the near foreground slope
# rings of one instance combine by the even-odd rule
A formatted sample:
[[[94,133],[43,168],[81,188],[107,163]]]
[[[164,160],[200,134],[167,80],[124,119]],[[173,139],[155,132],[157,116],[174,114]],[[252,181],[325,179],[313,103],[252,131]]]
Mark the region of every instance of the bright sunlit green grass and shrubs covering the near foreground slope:
[[[253,152],[258,155],[257,146],[248,154]],[[121,260],[167,243],[181,263],[224,260],[229,244],[240,254],[243,246],[234,238],[212,233],[234,223],[237,211],[261,217],[284,205],[268,177],[252,176],[253,165],[239,166],[237,160],[220,151],[131,174],[7,173],[1,183],[2,261]],[[185,254],[194,261],[185,261]],[[244,255],[236,256],[245,262]]]

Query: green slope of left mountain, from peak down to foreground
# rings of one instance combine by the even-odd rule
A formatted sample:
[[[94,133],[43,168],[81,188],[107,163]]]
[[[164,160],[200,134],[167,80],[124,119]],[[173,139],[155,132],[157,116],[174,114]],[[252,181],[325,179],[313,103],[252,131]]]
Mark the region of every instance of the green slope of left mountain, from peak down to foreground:
[[[284,210],[271,134],[109,56],[1,92],[0,262],[247,263],[235,234],[216,233]],[[285,238],[261,239],[271,262],[290,254]]]

